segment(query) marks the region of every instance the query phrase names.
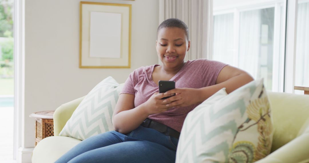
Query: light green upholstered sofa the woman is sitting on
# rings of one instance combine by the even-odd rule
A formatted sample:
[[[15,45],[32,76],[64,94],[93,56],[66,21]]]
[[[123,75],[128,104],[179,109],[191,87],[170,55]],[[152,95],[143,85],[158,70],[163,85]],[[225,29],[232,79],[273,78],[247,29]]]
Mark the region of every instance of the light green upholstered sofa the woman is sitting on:
[[[268,93],[274,123],[272,153],[257,162],[309,162],[309,95]],[[57,108],[54,113],[55,136],[36,145],[32,153],[33,163],[54,162],[81,141],[58,135],[83,98]]]

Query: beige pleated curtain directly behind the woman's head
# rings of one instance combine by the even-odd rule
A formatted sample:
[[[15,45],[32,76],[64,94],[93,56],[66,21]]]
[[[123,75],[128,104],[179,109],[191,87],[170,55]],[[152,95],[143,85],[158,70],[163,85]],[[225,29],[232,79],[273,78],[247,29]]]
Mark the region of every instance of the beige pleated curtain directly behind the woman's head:
[[[177,18],[188,25],[191,48],[185,60],[210,58],[213,0],[159,0],[159,24]],[[159,60],[160,63],[160,60]]]

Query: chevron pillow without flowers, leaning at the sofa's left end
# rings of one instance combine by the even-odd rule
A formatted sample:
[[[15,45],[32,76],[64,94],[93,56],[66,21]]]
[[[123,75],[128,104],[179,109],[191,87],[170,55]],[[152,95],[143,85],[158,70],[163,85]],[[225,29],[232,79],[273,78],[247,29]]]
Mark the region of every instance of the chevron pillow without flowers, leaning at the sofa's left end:
[[[101,81],[78,105],[59,136],[85,140],[114,130],[112,115],[122,87],[112,77]]]

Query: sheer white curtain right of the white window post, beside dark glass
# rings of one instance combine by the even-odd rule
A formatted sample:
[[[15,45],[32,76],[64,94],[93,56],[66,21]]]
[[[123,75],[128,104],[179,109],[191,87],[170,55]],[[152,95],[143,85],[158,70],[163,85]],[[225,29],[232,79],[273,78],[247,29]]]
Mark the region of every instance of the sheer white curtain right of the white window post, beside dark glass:
[[[261,10],[240,13],[239,68],[258,76],[260,54]]]

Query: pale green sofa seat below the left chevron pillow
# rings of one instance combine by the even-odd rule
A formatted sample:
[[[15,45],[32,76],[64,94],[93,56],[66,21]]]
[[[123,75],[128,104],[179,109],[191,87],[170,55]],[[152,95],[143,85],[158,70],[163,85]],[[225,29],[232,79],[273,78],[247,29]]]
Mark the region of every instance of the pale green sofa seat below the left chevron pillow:
[[[53,163],[81,140],[65,136],[50,136],[41,140],[32,153],[32,163]]]

